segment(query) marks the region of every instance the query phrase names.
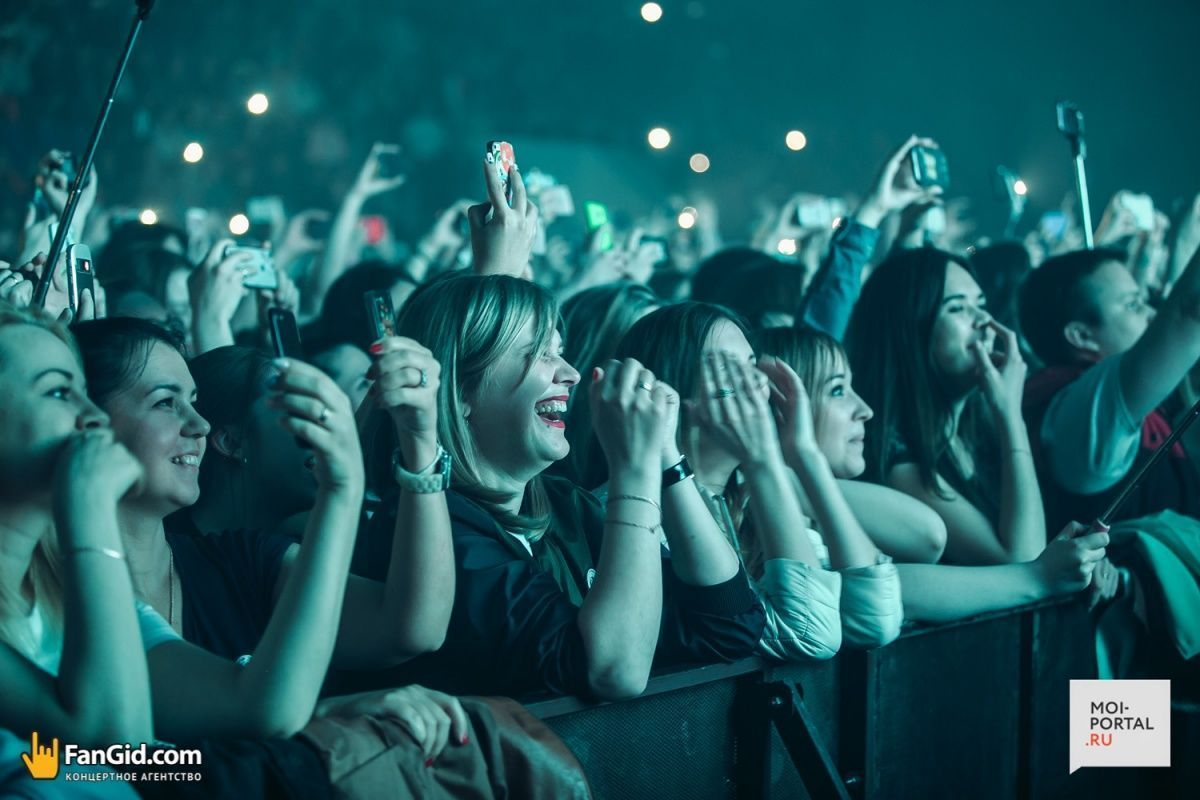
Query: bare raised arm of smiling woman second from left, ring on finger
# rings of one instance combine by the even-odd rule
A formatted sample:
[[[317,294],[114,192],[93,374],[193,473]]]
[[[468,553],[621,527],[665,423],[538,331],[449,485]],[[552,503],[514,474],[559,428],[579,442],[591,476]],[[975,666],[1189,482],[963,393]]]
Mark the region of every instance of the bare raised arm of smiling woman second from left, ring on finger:
[[[184,642],[149,652],[156,730],[166,739],[290,736],[312,716],[334,652],[362,506],[362,455],[346,395],[307,365],[277,368],[268,403],[312,449],[317,501],[246,666]]]

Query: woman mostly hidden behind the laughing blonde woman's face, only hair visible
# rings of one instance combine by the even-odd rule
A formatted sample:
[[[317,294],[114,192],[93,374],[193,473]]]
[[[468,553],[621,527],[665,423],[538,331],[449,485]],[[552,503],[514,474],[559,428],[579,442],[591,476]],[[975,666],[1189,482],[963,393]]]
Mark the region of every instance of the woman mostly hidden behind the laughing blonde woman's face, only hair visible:
[[[625,331],[661,305],[650,289],[630,281],[584,289],[563,303],[563,357],[568,363],[580,365],[583,375],[566,404],[566,441],[571,452],[558,465],[564,476],[586,489],[600,486],[606,477],[604,458],[595,450],[599,443],[592,433],[592,409],[587,401],[592,369],[612,359]]]

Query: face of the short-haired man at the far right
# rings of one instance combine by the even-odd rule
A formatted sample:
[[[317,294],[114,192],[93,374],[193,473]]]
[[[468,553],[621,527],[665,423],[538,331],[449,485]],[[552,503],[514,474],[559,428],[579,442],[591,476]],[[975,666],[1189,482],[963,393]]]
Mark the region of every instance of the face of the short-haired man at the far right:
[[[1154,319],[1145,293],[1120,261],[1105,261],[1079,288],[1094,317],[1086,323],[1069,323],[1067,330],[1074,329],[1074,335],[1068,333],[1068,341],[1090,361],[1124,353]]]

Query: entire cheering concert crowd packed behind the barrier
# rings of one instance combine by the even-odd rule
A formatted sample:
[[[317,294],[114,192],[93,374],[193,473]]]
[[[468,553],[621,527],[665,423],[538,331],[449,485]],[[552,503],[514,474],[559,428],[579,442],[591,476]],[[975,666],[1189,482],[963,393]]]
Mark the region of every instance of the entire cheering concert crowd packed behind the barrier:
[[[1200,396],[1200,198],[988,241],[914,148],[737,246],[712,204],[572,235],[565,187],[485,158],[406,246],[364,223],[412,191],[377,144],[331,218],[266,227],[266,288],[215,213],[124,218],[92,172],[95,283],[64,259],[38,307],[50,151],[0,264],[4,787],[66,796],[37,730],[198,747],[196,796],[588,796],[503,698],[1076,594],[1102,675],[1194,680],[1200,447],[1093,523]],[[134,789],[182,790],[90,788]]]

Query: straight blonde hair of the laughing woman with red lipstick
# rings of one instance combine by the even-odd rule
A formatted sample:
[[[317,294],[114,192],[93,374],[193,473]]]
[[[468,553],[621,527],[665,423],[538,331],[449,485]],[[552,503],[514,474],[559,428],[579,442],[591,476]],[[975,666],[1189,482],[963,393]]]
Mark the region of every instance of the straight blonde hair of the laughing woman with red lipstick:
[[[454,459],[455,491],[505,530],[536,541],[550,522],[541,476],[530,481],[518,513],[505,510],[503,497],[478,469],[479,447],[466,416],[491,367],[516,345],[527,323],[533,324],[538,349],[548,347],[558,325],[558,306],[544,288],[504,275],[448,272],[413,293],[396,319],[396,332],[427,347],[442,365],[438,438]]]

